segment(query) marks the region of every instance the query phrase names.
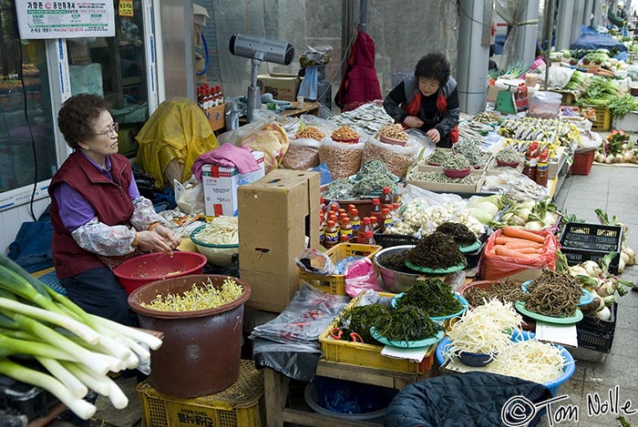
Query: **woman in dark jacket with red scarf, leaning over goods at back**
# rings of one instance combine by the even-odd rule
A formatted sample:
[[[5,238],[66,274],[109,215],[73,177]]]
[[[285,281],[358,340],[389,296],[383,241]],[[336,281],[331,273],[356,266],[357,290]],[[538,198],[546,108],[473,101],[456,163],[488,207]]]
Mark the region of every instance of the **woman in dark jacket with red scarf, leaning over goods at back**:
[[[452,147],[458,141],[457,81],[450,75],[449,61],[432,53],[417,62],[415,72],[406,76],[387,95],[387,114],[403,127],[423,130],[437,147]]]

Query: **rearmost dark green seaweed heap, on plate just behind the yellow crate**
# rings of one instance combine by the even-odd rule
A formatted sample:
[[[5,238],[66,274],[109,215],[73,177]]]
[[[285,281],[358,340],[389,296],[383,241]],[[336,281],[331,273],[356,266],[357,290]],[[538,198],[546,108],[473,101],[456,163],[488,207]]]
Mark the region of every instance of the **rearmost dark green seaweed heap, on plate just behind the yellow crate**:
[[[448,316],[462,309],[452,288],[440,279],[419,277],[415,284],[396,300],[396,308],[414,306],[431,317]]]

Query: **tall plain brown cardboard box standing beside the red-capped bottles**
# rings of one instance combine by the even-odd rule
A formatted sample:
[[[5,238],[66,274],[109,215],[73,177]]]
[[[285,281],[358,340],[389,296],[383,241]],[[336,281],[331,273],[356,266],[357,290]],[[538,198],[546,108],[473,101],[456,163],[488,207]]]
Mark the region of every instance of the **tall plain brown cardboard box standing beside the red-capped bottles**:
[[[320,174],[274,169],[238,189],[240,277],[251,285],[246,305],[281,312],[299,290],[294,259],[319,248]]]

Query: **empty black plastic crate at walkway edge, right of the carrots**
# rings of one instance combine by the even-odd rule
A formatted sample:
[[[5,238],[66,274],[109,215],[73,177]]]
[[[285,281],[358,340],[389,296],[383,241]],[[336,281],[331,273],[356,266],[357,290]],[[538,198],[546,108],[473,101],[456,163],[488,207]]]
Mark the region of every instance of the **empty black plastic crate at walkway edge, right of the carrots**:
[[[618,273],[622,250],[623,229],[619,226],[568,222],[561,233],[561,252],[569,265],[583,261],[598,261],[609,252],[616,252],[609,271]]]

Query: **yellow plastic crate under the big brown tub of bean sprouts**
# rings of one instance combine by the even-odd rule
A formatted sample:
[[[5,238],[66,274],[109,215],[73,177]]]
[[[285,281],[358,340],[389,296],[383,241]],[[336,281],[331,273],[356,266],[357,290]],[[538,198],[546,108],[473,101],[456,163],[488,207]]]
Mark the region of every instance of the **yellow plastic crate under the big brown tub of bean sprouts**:
[[[265,427],[262,371],[254,361],[242,361],[239,379],[226,390],[193,399],[161,394],[150,380],[136,390],[142,401],[142,425],[147,427]]]

